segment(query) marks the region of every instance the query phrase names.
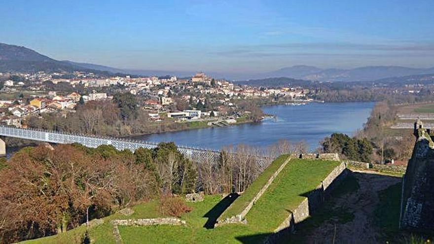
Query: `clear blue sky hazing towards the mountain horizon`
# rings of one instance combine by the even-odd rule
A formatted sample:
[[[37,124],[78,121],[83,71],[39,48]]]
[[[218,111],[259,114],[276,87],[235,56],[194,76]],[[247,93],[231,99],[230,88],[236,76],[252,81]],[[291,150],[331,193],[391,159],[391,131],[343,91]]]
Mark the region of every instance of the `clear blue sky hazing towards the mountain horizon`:
[[[0,42],[119,68],[434,66],[434,0],[0,0]]]

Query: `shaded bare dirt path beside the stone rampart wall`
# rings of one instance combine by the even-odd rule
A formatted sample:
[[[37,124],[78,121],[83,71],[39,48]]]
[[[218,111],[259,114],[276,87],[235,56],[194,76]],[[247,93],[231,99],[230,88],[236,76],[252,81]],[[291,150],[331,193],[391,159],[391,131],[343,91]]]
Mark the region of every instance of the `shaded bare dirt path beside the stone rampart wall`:
[[[333,208],[350,209],[355,218],[344,224],[327,220],[323,225],[311,231],[306,237],[307,243],[378,243],[380,231],[375,227],[375,209],[379,202],[378,192],[400,182],[400,178],[378,174],[376,172],[354,172],[359,181],[357,192],[334,198]],[[335,231],[336,228],[336,231]],[[334,234],[336,233],[336,234]]]

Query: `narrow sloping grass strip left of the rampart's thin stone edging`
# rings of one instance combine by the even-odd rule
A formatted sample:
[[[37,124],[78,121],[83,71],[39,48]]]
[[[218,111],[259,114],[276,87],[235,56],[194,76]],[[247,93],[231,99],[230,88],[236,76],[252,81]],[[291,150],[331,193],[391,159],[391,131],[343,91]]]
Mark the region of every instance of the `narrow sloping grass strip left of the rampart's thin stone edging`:
[[[253,197],[260,191],[260,189],[267,183],[268,179],[273,175],[277,169],[287,160],[289,155],[282,155],[271,163],[267,169],[264,170],[253,183],[244,191],[244,193],[235,200],[231,206],[223,212],[220,219],[225,219],[239,214],[243,209],[249,205]]]

